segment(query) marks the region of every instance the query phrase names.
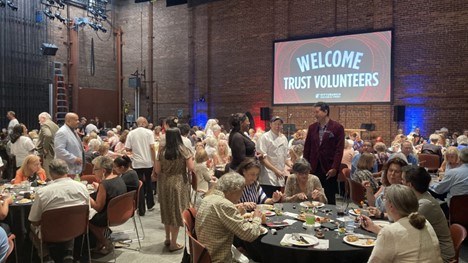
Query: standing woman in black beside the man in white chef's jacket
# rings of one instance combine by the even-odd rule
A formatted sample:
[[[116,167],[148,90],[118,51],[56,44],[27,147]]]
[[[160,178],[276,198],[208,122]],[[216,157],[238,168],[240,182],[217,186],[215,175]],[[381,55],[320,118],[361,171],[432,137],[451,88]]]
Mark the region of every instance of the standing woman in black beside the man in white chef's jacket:
[[[245,135],[249,131],[249,117],[244,113],[231,115],[231,132],[229,133],[229,147],[232,153],[232,162],[229,168],[237,170],[245,157],[255,156],[255,143]]]

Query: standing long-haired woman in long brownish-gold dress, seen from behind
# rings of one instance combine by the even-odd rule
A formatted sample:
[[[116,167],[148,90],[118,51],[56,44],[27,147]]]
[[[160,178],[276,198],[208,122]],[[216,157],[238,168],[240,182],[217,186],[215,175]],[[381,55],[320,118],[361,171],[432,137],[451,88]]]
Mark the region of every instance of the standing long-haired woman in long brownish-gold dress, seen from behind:
[[[182,249],[177,243],[183,226],[182,211],[189,207],[190,184],[187,171],[193,170],[192,151],[185,147],[178,128],[166,130],[166,143],[160,149],[155,168],[158,174],[161,221],[166,231],[164,245],[170,252]]]

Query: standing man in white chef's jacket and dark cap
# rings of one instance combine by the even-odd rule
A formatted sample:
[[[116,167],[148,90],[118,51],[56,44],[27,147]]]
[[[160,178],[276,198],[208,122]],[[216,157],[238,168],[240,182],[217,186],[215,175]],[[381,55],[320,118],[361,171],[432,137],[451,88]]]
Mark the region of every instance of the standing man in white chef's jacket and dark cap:
[[[260,172],[260,185],[268,197],[280,191],[285,183],[286,165],[292,167],[289,160],[288,139],[281,133],[283,120],[275,116],[270,120],[271,129],[265,132],[257,141],[257,152],[263,155],[262,169]]]

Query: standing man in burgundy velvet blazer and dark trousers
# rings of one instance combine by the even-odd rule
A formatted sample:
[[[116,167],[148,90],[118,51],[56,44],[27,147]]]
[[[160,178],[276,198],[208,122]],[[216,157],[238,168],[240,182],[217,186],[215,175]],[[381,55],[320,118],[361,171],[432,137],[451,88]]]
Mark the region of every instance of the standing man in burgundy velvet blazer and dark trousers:
[[[330,119],[330,107],[325,102],[314,105],[317,122],[309,126],[304,144],[304,158],[311,172],[318,176],[329,204],[336,204],[336,177],[343,158],[344,128]]]

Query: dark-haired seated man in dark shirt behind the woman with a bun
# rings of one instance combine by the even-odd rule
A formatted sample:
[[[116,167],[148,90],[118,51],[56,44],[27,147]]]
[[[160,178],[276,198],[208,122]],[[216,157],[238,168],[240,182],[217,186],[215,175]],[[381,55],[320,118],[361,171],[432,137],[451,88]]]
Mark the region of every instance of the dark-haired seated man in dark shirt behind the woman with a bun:
[[[403,167],[402,182],[413,190],[418,198],[418,212],[431,223],[439,239],[440,253],[444,262],[452,262],[455,258],[452,236],[447,219],[439,202],[427,191],[431,176],[423,167],[408,165]]]

